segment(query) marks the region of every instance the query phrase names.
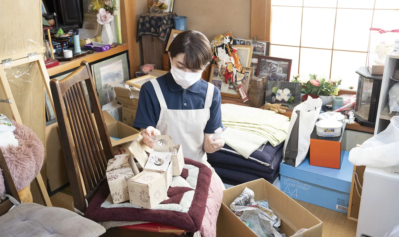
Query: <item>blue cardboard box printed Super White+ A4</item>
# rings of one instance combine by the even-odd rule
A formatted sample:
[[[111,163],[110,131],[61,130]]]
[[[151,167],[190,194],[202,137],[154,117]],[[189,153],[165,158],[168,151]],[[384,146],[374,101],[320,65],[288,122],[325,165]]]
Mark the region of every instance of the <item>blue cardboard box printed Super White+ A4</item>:
[[[280,190],[293,199],[348,213],[353,164],[349,152],[341,152],[341,169],[309,164],[309,156],[298,166],[280,165]]]

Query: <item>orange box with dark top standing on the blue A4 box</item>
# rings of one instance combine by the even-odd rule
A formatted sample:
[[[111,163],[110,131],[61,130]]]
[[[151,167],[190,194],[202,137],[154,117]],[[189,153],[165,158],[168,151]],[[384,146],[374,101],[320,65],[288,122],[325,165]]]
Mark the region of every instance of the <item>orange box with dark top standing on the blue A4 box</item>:
[[[316,127],[310,135],[310,165],[327,168],[341,168],[341,142],[344,136],[345,123],[341,135],[337,137],[317,136]]]

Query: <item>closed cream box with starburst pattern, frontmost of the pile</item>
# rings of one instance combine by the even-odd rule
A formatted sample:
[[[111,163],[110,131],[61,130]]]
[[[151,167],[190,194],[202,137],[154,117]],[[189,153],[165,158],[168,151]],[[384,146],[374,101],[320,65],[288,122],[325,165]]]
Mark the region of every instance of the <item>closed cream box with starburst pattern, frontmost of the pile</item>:
[[[127,183],[130,203],[139,207],[152,209],[168,198],[163,174],[144,170]]]

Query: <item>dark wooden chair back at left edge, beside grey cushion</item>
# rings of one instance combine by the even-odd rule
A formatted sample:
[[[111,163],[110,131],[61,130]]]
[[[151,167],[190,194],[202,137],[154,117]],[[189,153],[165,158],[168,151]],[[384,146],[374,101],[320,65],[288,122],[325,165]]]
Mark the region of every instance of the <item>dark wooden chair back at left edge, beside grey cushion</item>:
[[[3,170],[6,194],[11,195],[13,198],[17,199],[17,201],[21,202],[20,196],[18,196],[17,188],[15,187],[15,184],[14,184],[14,180],[12,180],[10,170],[8,170],[8,166],[7,166],[6,160],[4,159],[3,152],[1,151],[1,149],[0,149],[0,169]],[[10,208],[13,205],[14,204],[8,198],[1,200],[0,216],[7,213],[7,211],[10,210]]]

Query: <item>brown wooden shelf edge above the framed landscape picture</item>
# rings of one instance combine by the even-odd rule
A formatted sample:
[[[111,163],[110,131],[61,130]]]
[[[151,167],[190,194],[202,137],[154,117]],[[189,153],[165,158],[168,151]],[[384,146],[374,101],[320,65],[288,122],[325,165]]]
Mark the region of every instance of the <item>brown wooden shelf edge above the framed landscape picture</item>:
[[[129,45],[127,43],[125,43],[123,45],[118,45],[117,47],[111,48],[104,52],[94,52],[92,54],[89,54],[89,55],[86,55],[83,57],[79,57],[79,58],[73,59],[71,61],[59,62],[58,66],[48,68],[47,72],[49,73],[49,76],[51,77],[58,73],[62,73],[64,71],[68,71],[70,69],[79,67],[80,62],[83,60],[91,63],[91,62],[97,61],[99,59],[103,59],[105,57],[109,57],[111,55],[126,51],[128,49],[129,49]]]

